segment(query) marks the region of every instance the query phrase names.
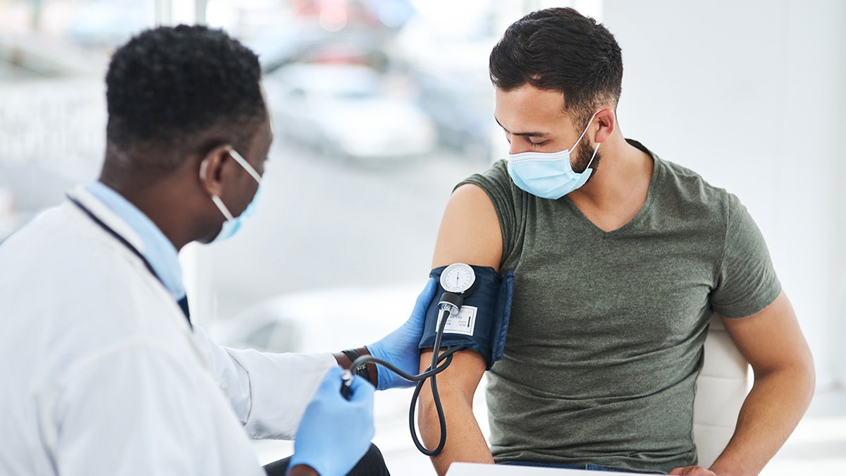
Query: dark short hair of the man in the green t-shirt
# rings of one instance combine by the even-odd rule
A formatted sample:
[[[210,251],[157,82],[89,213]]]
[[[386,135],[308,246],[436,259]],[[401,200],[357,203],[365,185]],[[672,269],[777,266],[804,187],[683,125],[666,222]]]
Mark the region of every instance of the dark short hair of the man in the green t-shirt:
[[[573,8],[525,15],[505,30],[490,58],[493,85],[502,91],[529,84],[560,91],[564,111],[586,124],[603,102],[616,107],[623,56],[614,36]]]

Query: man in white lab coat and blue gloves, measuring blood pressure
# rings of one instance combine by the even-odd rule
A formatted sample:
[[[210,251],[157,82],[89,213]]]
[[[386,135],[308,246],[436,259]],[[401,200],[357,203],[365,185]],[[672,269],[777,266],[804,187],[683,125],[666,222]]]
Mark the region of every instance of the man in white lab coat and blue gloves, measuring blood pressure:
[[[404,381],[357,369],[348,401],[340,368],[371,352],[415,373],[432,282],[401,328],[336,355],[228,349],[190,322],[179,249],[232,235],[260,195],[260,76],[201,26],[114,53],[100,180],[0,246],[0,473],[387,473],[373,390]],[[294,438],[294,455],[262,471],[250,438]]]

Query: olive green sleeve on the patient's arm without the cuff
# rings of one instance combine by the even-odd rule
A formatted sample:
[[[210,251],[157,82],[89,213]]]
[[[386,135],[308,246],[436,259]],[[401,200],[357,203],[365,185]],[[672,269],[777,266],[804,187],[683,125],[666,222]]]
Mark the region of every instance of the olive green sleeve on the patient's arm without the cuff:
[[[769,306],[782,286],[764,236],[737,196],[728,195],[728,219],[711,307],[724,318],[744,318]]]

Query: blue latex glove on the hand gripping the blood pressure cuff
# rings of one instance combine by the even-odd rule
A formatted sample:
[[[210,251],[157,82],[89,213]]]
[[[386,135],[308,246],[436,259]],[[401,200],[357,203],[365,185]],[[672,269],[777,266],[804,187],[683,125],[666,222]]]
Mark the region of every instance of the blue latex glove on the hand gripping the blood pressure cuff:
[[[430,278],[426,288],[417,296],[415,309],[411,312],[409,320],[370,346],[367,350],[371,355],[396,365],[407,374],[420,373],[420,338],[423,336],[423,324],[426,322],[426,309],[429,307],[432,297],[437,291],[437,280]],[[406,379],[394,374],[384,367],[377,371],[379,377],[378,390],[412,387],[416,382],[409,382]]]

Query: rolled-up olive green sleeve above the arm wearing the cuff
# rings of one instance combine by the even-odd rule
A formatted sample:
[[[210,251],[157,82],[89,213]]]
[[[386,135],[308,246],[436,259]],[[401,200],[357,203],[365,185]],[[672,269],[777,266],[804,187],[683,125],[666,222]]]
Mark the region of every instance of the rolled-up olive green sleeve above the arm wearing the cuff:
[[[500,160],[494,163],[491,169],[470,175],[459,185],[455,185],[455,188],[464,184],[478,185],[491,198],[493,208],[497,211],[499,227],[503,232],[503,257],[507,257],[514,248],[519,208],[518,197],[514,193],[514,182],[508,176],[506,163],[505,160]]]

